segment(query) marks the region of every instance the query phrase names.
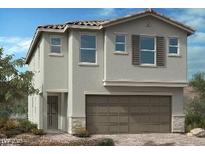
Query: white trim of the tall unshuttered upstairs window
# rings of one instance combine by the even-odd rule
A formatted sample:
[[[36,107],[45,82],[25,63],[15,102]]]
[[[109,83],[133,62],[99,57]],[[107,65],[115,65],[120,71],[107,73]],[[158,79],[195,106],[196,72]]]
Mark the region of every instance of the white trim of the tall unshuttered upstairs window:
[[[82,35],[88,35],[88,36],[95,36],[95,48],[81,48],[81,36]],[[97,64],[97,35],[96,34],[92,34],[92,33],[80,33],[80,42],[79,42],[79,66],[98,66]],[[95,62],[81,62],[81,50],[95,50]]]

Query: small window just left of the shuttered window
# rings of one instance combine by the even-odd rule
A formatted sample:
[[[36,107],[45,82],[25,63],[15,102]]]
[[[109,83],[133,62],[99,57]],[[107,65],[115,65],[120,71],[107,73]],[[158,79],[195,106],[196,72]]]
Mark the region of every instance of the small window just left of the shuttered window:
[[[125,35],[116,35],[115,51],[116,52],[125,52]]]

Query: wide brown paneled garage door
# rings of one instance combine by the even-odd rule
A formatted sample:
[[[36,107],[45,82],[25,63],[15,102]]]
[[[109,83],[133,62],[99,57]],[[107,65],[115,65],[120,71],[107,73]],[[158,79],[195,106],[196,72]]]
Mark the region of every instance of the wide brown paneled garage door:
[[[92,134],[170,132],[169,96],[87,96],[86,125]]]

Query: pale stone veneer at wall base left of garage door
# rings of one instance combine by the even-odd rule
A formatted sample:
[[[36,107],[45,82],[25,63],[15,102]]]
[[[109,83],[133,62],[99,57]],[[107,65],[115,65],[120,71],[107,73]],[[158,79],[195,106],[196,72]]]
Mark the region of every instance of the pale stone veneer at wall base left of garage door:
[[[84,117],[69,117],[68,118],[68,133],[73,134],[78,128],[86,128],[85,118]]]

